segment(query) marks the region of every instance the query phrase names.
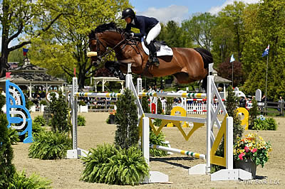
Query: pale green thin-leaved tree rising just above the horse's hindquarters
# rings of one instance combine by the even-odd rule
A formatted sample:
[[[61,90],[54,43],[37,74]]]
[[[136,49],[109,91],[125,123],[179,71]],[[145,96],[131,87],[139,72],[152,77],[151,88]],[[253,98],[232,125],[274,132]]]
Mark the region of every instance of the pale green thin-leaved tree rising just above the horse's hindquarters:
[[[190,20],[182,22],[182,29],[199,47],[211,50],[214,19],[215,16],[211,13],[198,13]]]

